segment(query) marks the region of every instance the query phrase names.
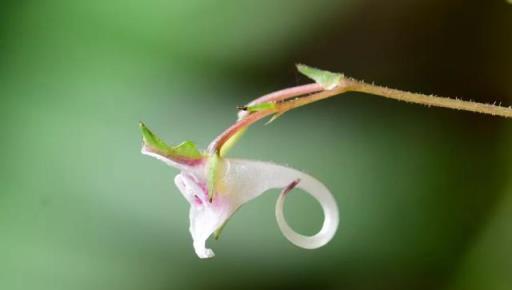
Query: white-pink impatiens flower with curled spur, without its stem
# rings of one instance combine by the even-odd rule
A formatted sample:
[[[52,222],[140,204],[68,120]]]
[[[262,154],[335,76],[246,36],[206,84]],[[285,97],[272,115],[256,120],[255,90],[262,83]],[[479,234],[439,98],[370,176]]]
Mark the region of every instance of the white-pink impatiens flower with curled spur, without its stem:
[[[190,233],[194,250],[200,258],[214,256],[206,248],[206,240],[218,236],[228,219],[246,202],[272,188],[282,188],[276,204],[276,218],[283,235],[293,244],[315,249],[325,245],[338,227],[338,207],[329,190],[315,178],[298,170],[255,160],[220,158],[199,152],[192,142],[168,146],[144,124],[142,153],[155,157],[180,170],[174,182],[183,197],[190,203]],[[209,194],[212,177],[209,159],[215,158],[215,192]],[[322,206],[324,222],[314,236],[296,233],[283,214],[284,199],[294,187],[311,194]]]

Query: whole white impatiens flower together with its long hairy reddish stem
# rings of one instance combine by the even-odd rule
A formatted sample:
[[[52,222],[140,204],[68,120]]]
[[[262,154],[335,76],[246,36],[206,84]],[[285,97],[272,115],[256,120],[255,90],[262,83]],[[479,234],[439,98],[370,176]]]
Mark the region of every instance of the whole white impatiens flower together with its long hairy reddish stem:
[[[336,201],[315,178],[270,162],[224,158],[242,133],[258,120],[272,116],[271,122],[289,110],[349,91],[512,118],[512,107],[390,89],[306,65],[298,65],[297,69],[315,83],[276,91],[240,107],[238,121],[215,138],[205,152],[198,151],[190,141],[168,146],[141,123],[144,139],[142,153],[181,170],[174,181],[190,203],[190,233],[200,258],[213,257],[213,251],[205,246],[208,237],[212,234],[218,237],[224,224],[238,208],[271,188],[283,189],[276,204],[276,218],[281,232],[290,242],[314,249],[329,242],[336,232],[339,222]],[[284,218],[284,199],[295,187],[311,194],[322,206],[324,223],[314,236],[296,233]]]

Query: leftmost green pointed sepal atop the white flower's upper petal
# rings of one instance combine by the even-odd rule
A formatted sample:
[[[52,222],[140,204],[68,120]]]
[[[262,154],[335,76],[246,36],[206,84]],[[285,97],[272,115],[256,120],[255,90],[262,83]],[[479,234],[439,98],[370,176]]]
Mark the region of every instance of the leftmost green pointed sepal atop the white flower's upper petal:
[[[152,152],[171,159],[201,159],[203,155],[192,141],[184,141],[176,146],[167,145],[162,139],[149,130],[144,123],[139,123],[142,140]]]

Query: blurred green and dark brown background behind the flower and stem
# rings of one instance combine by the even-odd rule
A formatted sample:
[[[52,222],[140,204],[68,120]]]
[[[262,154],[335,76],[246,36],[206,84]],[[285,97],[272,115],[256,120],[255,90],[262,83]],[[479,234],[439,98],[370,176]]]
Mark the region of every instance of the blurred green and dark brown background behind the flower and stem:
[[[201,147],[294,64],[512,104],[512,5],[467,0],[28,0],[0,8],[0,289],[511,289],[512,121],[346,94],[257,124],[233,157],[323,181],[327,246],[277,192],[198,259],[177,171],[137,123]],[[315,233],[304,192],[286,215]]]

